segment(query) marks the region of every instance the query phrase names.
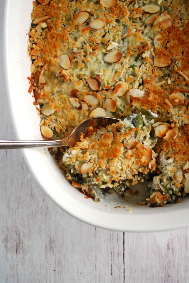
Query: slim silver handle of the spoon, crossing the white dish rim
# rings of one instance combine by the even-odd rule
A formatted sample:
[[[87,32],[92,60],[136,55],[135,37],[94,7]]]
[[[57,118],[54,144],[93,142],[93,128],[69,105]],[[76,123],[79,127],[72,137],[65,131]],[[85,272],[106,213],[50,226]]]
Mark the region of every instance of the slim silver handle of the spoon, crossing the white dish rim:
[[[59,147],[66,145],[66,139],[50,141],[9,141],[0,140],[0,149],[27,148],[27,147]]]

